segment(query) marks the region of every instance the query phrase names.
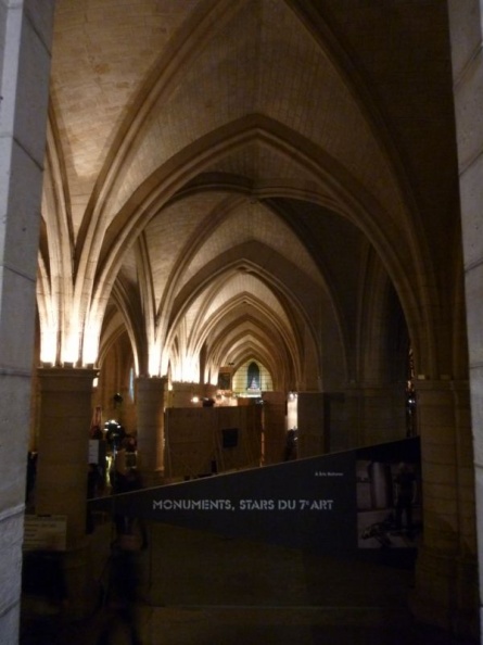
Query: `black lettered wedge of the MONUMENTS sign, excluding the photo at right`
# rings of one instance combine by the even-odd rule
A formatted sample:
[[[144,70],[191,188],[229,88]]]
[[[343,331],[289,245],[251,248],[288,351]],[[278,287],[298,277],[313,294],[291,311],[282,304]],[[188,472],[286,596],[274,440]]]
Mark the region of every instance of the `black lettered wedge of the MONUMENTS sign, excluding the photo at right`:
[[[354,454],[275,466],[92,499],[92,509],[289,546],[356,545]]]

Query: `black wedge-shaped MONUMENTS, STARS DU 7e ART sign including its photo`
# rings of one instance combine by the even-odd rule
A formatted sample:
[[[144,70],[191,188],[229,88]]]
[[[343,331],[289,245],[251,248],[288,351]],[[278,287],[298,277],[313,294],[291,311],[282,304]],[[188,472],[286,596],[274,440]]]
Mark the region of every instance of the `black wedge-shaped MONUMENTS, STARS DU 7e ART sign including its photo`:
[[[396,491],[403,464],[414,473],[409,479],[416,496],[399,508]],[[325,554],[414,547],[421,528],[416,513],[418,469],[416,439],[215,475],[89,504],[113,515]]]

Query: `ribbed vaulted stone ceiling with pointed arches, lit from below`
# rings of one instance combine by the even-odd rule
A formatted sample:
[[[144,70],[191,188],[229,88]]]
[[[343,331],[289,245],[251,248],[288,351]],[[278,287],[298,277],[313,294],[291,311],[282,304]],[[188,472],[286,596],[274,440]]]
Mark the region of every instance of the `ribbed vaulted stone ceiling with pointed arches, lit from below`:
[[[444,5],[58,0],[41,320],[60,292],[79,344],[125,330],[140,374],[255,357],[309,388],[360,368],[394,290],[431,361],[421,302],[457,262]]]

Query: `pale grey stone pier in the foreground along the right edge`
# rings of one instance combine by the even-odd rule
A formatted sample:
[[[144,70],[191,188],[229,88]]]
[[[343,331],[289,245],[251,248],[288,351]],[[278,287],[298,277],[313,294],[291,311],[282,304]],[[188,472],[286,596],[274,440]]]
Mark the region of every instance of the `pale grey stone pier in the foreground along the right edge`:
[[[448,0],[483,598],[483,28],[480,0]],[[483,606],[480,606],[483,634]]]

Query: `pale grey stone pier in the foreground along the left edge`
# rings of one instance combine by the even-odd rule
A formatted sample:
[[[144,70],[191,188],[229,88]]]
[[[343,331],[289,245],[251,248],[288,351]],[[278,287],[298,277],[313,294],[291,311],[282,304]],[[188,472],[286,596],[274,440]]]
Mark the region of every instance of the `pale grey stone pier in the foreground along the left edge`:
[[[0,3],[0,643],[18,642],[53,1]]]

